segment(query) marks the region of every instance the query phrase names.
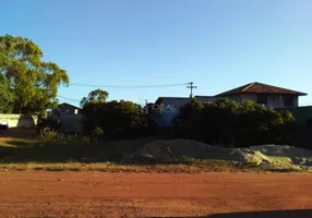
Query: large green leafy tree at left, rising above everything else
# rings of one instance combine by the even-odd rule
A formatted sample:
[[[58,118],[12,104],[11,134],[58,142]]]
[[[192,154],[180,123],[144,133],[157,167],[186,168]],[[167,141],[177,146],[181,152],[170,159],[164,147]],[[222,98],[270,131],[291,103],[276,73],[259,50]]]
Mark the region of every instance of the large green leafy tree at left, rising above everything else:
[[[14,97],[13,111],[33,113],[53,108],[59,85],[69,84],[67,71],[43,61],[41,49],[27,38],[0,36],[0,73]]]

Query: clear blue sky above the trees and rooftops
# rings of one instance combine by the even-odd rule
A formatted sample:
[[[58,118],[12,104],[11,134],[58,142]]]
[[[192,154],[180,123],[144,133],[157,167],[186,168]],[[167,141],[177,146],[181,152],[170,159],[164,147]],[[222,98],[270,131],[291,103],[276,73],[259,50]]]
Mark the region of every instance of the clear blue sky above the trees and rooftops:
[[[262,82],[308,93],[300,102],[312,105],[311,0],[10,0],[0,11],[0,35],[34,40],[71,83],[192,81],[195,95],[215,95]],[[79,105],[92,89],[59,95]],[[184,86],[105,89],[140,104],[189,95]]]

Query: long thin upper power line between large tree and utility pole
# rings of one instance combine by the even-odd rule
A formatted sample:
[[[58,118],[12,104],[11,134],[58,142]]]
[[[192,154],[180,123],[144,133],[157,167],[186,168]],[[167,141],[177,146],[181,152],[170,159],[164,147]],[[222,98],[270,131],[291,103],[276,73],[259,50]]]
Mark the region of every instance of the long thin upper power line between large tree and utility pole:
[[[83,87],[104,87],[104,88],[156,88],[156,87],[176,87],[184,86],[188,83],[178,83],[178,84],[163,84],[163,85],[92,85],[92,84],[80,84],[80,83],[70,83],[72,86],[83,86]]]

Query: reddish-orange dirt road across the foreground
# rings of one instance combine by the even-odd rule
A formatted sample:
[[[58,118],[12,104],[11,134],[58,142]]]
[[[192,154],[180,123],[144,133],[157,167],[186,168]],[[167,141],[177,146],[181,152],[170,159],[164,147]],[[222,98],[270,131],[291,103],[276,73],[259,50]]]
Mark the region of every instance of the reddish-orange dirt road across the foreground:
[[[311,174],[0,171],[0,217],[194,217],[311,208]],[[312,217],[311,211],[301,215]]]

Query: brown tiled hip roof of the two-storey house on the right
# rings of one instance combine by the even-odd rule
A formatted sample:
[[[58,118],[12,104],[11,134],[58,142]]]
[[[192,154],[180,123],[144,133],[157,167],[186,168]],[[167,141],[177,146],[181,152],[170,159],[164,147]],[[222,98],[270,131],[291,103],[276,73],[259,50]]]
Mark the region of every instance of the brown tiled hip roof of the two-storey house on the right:
[[[267,85],[263,83],[249,83],[243,86],[220,93],[216,96],[229,96],[229,95],[237,95],[237,94],[242,94],[242,93],[250,93],[250,94],[280,94],[280,95],[296,95],[296,96],[305,96],[308,94],[297,92],[297,90],[291,90],[287,88],[281,88],[273,85]]]

